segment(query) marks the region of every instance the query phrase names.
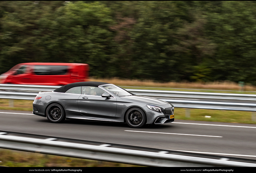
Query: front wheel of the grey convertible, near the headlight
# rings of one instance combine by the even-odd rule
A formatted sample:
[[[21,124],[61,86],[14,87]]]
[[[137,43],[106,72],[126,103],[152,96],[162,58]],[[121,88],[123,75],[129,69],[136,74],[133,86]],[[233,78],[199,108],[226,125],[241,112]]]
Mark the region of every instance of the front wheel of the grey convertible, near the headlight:
[[[132,128],[141,128],[146,124],[146,115],[140,108],[131,108],[127,111],[126,123]]]

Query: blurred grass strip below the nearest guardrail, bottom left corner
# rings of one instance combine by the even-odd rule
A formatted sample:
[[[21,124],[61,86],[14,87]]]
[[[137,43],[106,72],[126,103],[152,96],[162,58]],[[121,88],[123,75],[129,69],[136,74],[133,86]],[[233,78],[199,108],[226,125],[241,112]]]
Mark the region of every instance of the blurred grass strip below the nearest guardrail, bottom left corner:
[[[5,167],[139,167],[72,157],[0,149],[0,166]]]

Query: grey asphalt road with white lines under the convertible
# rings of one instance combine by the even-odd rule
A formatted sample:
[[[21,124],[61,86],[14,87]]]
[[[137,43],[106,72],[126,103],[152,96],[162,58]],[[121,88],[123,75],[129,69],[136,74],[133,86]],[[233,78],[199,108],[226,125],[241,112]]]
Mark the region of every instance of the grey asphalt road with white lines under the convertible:
[[[0,130],[256,160],[256,125],[249,124],[175,120],[132,129],[95,121],[54,124],[31,112],[0,110]]]

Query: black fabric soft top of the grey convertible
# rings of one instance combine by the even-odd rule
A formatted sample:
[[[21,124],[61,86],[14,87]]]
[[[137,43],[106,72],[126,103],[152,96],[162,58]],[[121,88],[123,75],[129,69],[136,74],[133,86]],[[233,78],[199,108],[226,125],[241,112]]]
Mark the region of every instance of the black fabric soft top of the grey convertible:
[[[99,87],[99,85],[103,85],[103,84],[109,84],[106,82],[75,82],[75,83],[70,83],[70,84],[66,84],[56,90],[54,90],[54,92],[58,92],[58,93],[65,93],[66,91],[68,91],[69,89],[73,88],[73,87],[80,87],[80,86],[91,86],[91,87]]]

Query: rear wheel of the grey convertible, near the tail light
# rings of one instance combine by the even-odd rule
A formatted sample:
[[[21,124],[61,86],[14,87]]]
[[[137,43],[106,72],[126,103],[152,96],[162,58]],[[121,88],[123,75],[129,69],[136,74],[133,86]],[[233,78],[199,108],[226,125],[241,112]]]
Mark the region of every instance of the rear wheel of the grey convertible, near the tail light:
[[[66,119],[65,111],[58,103],[53,103],[47,107],[46,117],[51,123],[61,123]]]

